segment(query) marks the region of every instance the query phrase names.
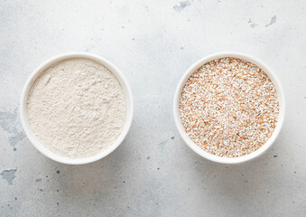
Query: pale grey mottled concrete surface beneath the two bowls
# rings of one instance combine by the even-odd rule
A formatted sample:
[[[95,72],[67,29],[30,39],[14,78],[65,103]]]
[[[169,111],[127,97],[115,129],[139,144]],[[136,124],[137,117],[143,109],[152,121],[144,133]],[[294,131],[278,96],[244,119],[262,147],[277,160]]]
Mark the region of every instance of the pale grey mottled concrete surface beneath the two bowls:
[[[1,1],[0,216],[306,216],[306,2]],[[213,52],[245,52],[283,84],[273,148],[243,165],[193,153],[172,117],[181,75]],[[114,153],[61,165],[24,136],[19,100],[56,54],[92,52],[124,72],[134,122]]]

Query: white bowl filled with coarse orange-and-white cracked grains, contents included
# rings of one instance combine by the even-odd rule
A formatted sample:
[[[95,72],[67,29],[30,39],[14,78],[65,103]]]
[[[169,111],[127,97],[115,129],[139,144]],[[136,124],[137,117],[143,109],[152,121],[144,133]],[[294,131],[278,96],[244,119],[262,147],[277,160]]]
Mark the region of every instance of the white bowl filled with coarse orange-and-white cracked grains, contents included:
[[[261,156],[279,135],[283,90],[263,62],[220,52],[185,72],[175,91],[173,113],[181,137],[199,156],[242,163]]]

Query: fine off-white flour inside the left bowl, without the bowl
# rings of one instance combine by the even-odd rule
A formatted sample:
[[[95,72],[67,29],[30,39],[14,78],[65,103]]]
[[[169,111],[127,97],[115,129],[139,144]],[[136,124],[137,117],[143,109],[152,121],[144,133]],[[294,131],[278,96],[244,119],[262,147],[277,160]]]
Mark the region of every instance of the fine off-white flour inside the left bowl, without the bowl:
[[[32,132],[52,152],[94,156],[125,124],[125,95],[107,68],[86,58],[55,63],[35,80],[27,102]]]

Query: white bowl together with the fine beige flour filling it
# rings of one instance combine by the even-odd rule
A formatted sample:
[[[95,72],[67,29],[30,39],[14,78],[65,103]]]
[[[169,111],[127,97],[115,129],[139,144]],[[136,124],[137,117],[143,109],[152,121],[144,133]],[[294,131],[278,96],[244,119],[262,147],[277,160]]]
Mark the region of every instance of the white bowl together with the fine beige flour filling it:
[[[82,165],[122,143],[133,108],[129,85],[114,64],[94,54],[67,53],[32,73],[20,114],[26,136],[44,156]]]

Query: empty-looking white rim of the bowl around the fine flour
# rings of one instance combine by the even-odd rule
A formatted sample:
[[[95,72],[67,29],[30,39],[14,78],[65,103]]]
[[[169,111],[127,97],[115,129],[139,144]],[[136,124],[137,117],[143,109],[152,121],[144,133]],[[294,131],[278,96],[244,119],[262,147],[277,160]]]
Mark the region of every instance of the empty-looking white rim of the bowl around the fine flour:
[[[101,64],[106,66],[107,69],[115,75],[116,79],[119,81],[122,89],[124,90],[127,108],[126,108],[125,125],[122,128],[120,136],[117,137],[116,141],[111,146],[109,146],[105,151],[98,153],[95,156],[89,156],[86,158],[79,158],[79,159],[72,159],[69,157],[59,156],[51,152],[51,150],[43,146],[42,143],[34,136],[34,134],[32,133],[32,129],[28,122],[26,104],[27,104],[29,90],[32,87],[32,83],[38,78],[38,76],[42,73],[42,71],[50,67],[51,64],[53,64],[54,62],[62,61],[62,60],[69,59],[69,58],[76,58],[76,57],[88,58],[88,59],[100,62]],[[109,155],[110,153],[112,153],[116,149],[116,147],[118,147],[122,143],[125,136],[127,135],[127,132],[132,124],[133,111],[134,111],[134,104],[133,104],[132,91],[130,90],[127,80],[125,79],[125,76],[122,74],[122,72],[119,71],[116,68],[116,66],[112,64],[110,61],[107,61],[106,59],[99,57],[97,55],[83,53],[83,52],[71,52],[71,53],[60,54],[58,56],[51,58],[48,61],[43,62],[42,65],[40,65],[35,71],[32,72],[30,78],[26,81],[24,88],[23,88],[22,99],[20,103],[20,117],[22,120],[23,129],[24,129],[25,135],[32,142],[32,145],[35,146],[40,152],[42,152],[44,156],[48,156],[54,161],[57,161],[63,164],[68,164],[68,165],[88,164],[88,163],[97,161]]]

